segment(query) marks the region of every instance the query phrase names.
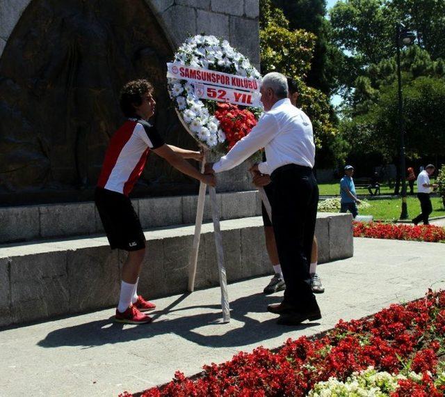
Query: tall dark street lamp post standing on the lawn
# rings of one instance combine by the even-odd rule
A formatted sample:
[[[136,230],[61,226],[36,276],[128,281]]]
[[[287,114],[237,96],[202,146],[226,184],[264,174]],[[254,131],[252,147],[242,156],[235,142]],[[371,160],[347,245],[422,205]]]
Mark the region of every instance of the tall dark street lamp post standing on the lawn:
[[[398,80],[398,128],[401,134],[401,182],[402,182],[402,212],[400,219],[408,218],[406,203],[406,178],[405,178],[405,122],[403,120],[402,77],[401,77],[401,47],[414,42],[415,34],[407,31],[401,23],[396,24],[397,47],[397,80]]]

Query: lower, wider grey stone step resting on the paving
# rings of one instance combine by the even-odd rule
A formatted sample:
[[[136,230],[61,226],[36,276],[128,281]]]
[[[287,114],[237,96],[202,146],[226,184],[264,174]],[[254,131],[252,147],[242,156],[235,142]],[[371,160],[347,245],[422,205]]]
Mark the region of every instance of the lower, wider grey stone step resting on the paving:
[[[221,230],[229,282],[272,272],[261,217],[221,221]],[[186,292],[193,234],[193,225],[145,232],[141,294],[152,299]],[[316,235],[319,263],[353,256],[350,215],[319,214]],[[125,258],[99,235],[0,246],[0,326],[115,305]],[[213,224],[203,224],[195,287],[218,282]]]

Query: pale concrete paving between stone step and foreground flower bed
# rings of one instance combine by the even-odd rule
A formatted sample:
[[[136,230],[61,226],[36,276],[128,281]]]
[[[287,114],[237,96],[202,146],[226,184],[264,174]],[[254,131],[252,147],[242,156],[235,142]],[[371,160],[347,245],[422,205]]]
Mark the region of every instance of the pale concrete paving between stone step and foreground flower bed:
[[[116,396],[168,382],[176,370],[230,359],[258,345],[312,335],[393,302],[445,288],[445,244],[355,238],[355,256],[325,263],[318,274],[323,318],[298,327],[275,324],[266,305],[269,277],[229,285],[232,321],[220,324],[219,288],[158,299],[151,325],[117,325],[114,309],[0,332],[0,396]],[[81,286],[79,286],[81,288]]]

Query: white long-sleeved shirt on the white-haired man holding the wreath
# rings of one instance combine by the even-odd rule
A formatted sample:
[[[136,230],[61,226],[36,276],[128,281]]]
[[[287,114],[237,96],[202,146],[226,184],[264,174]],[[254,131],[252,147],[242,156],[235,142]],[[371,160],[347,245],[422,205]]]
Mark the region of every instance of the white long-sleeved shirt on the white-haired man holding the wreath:
[[[232,169],[261,148],[266,149],[267,158],[267,162],[258,164],[261,173],[270,175],[285,164],[313,168],[315,145],[311,120],[288,98],[275,102],[252,131],[213,164],[213,171]]]

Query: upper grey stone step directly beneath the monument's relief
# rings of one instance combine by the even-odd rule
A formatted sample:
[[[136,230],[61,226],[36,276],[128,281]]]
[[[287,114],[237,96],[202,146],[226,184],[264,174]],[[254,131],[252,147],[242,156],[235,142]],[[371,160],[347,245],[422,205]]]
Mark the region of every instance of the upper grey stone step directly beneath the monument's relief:
[[[256,190],[217,194],[220,219],[261,215]],[[133,207],[143,228],[194,224],[197,196],[136,198]],[[206,196],[204,220],[211,220],[209,196]],[[92,201],[0,207],[0,244],[94,235],[104,231]]]

